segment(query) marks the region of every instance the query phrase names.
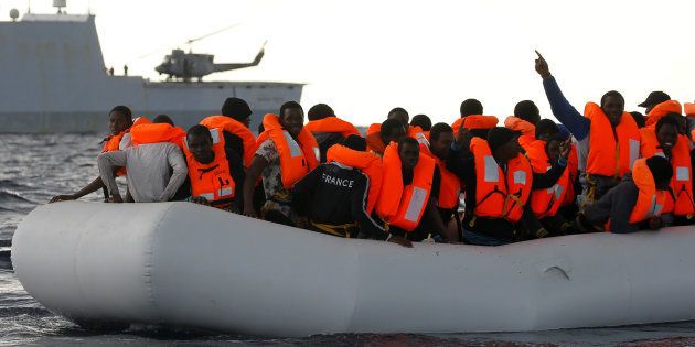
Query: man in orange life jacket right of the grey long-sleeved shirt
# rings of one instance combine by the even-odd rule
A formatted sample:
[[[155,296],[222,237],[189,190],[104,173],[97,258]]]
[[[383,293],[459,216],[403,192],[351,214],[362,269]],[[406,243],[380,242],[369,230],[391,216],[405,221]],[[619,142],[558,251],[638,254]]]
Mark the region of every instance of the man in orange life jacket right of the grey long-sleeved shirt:
[[[222,129],[193,126],[183,144],[191,202],[239,213],[243,206],[244,161],[224,147]]]

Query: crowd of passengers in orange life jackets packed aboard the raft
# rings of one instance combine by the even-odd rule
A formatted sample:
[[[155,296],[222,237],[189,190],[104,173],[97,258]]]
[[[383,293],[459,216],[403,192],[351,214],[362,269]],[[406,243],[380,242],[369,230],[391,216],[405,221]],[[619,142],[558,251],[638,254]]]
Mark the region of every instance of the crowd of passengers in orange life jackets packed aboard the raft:
[[[366,133],[319,104],[285,102],[258,137],[242,99],[188,131],[165,115],[109,112],[99,176],[110,203],[184,200],[343,238],[501,246],[581,232],[689,225],[695,105],[653,91],[626,112],[620,93],[579,112],[538,54],[553,115],[531,100],[504,120],[477,99],[432,124],[399,107]],[[685,116],[684,116],[685,113]],[[501,127],[503,124],[504,127]],[[125,176],[121,196],[117,176]]]

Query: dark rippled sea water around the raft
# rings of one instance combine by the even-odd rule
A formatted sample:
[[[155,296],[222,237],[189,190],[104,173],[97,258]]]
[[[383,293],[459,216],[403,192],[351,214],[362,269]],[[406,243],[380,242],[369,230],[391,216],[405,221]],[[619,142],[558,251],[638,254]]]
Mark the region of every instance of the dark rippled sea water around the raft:
[[[23,216],[35,206],[45,204],[53,195],[75,192],[97,176],[95,158],[100,139],[79,134],[0,134],[0,346],[695,346],[695,322],[538,333],[340,334],[306,338],[221,335],[154,326],[133,326],[119,334],[81,329],[26,294],[12,271],[11,239]],[[100,193],[84,199],[98,202]]]

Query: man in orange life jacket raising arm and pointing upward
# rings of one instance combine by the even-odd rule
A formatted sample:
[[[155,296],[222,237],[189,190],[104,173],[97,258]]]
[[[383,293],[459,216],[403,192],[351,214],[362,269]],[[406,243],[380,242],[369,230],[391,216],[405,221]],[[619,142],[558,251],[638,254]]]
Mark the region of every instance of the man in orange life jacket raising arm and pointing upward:
[[[536,52],[537,53],[537,52]],[[563,95],[547,62],[537,53],[535,68],[543,78],[553,115],[577,140],[580,206],[594,204],[630,171],[640,156],[640,132],[634,119],[624,111],[624,98],[616,90],[601,97],[600,106],[588,102],[584,116]]]

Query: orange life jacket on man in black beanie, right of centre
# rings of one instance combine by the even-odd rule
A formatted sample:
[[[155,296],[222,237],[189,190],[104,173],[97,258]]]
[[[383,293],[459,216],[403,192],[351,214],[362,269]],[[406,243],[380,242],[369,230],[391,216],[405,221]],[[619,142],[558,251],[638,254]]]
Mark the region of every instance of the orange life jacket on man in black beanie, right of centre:
[[[478,217],[518,221],[531,195],[533,172],[523,154],[506,163],[506,174],[492,156],[488,141],[471,140],[475,163],[475,208]]]

